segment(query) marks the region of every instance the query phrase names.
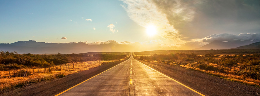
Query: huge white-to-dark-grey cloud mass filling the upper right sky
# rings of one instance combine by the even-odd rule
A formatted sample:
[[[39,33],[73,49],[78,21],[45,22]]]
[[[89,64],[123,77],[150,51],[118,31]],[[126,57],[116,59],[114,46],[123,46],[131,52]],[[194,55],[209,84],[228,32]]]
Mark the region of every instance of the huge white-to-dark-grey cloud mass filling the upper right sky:
[[[121,0],[131,20],[154,25],[158,34],[184,44],[211,34],[260,32],[259,1]]]

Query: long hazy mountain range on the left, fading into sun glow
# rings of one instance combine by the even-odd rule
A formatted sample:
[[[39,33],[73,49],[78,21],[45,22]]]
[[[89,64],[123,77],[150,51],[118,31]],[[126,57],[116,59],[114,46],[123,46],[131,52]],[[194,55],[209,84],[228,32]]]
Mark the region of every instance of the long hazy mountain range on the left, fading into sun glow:
[[[149,46],[140,43],[122,42],[117,43],[113,40],[110,43],[99,45],[88,45],[83,42],[78,43],[45,43],[29,41],[18,41],[10,44],[0,43],[2,51],[17,51],[18,53],[33,54],[71,54],[71,53],[87,53],[87,52],[137,52],[146,50],[156,50],[158,47]]]

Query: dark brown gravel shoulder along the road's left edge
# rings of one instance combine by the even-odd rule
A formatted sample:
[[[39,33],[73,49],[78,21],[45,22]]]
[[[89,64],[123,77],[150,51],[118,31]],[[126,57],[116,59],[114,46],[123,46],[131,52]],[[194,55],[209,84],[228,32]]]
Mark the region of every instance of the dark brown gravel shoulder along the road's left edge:
[[[127,60],[127,59],[126,59]],[[54,80],[40,81],[36,83],[26,84],[22,87],[15,87],[8,90],[2,90],[0,96],[52,96],[81,83],[125,60],[104,64],[99,67],[85,70],[76,74],[68,75],[64,78]]]

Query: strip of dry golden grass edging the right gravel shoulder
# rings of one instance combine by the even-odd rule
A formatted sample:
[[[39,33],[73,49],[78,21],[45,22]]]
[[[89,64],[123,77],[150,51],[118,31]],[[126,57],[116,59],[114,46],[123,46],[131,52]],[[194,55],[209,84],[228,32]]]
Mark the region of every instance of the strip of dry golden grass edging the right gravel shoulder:
[[[202,69],[199,69],[199,68],[190,67],[189,64],[180,65],[180,66],[184,67],[186,69],[192,69],[192,70],[196,70],[196,71],[201,71],[203,73],[211,74],[211,75],[214,75],[214,76],[222,77],[222,78],[228,79],[230,81],[235,81],[235,82],[239,82],[239,83],[244,83],[244,84],[254,85],[254,86],[260,87],[260,85],[259,85],[260,81],[252,79],[252,78],[244,78],[243,76],[237,76],[237,75],[232,75],[232,74],[224,74],[224,73],[220,73],[220,72],[216,72],[216,71],[202,70]]]

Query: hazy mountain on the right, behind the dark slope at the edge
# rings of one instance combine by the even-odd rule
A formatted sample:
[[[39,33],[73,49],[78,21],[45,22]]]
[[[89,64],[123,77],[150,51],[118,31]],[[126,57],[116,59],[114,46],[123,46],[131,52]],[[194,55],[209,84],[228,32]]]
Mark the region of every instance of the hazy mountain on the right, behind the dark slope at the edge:
[[[196,48],[193,50],[230,49],[230,48],[235,48],[235,47],[239,47],[239,46],[256,43],[259,41],[260,40],[258,40],[258,39],[245,40],[245,41],[235,40],[235,41],[227,41],[227,42],[213,41],[209,44],[206,44],[200,48]]]

